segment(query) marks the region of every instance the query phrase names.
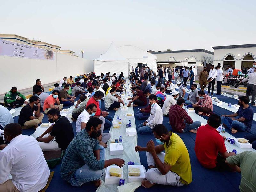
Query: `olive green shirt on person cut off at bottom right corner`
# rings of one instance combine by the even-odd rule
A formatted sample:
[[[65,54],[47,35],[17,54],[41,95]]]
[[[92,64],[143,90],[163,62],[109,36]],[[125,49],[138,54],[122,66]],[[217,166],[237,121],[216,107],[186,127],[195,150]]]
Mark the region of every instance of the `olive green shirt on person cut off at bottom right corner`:
[[[241,192],[256,191],[256,153],[244,151],[227,159],[228,164],[237,165],[241,168]]]

